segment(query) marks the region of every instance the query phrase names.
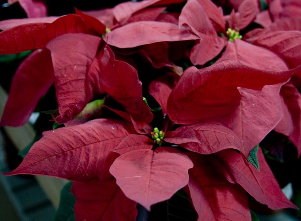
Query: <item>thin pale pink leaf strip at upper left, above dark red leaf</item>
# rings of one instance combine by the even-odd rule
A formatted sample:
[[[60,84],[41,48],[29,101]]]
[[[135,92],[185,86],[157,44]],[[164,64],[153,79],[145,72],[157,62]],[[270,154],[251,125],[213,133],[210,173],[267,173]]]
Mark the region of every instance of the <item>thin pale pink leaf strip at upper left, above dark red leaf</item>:
[[[25,25],[30,23],[52,23],[59,17],[49,16],[44,18],[27,18],[27,19],[9,19],[0,21],[0,30],[8,30],[15,26]]]

